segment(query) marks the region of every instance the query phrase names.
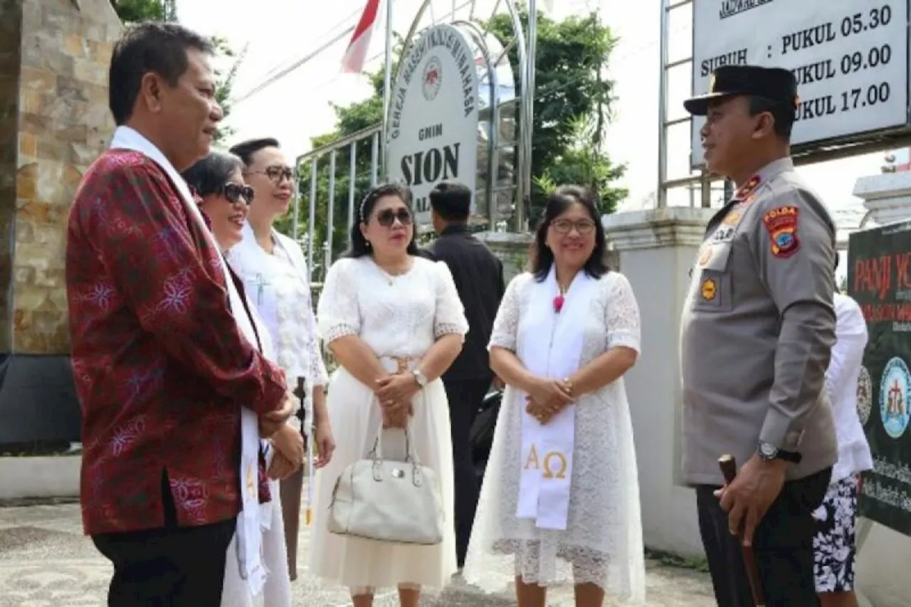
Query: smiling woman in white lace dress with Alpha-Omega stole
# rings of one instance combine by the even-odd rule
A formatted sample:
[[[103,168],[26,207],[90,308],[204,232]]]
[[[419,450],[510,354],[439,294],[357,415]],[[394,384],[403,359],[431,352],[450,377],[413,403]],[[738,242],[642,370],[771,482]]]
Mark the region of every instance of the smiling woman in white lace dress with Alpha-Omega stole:
[[[519,607],[575,583],[644,601],[639,481],[623,374],[640,348],[639,307],[604,263],[587,190],[558,189],[537,229],[532,273],[496,315],[491,366],[507,383],[466,561],[488,591],[515,582]]]

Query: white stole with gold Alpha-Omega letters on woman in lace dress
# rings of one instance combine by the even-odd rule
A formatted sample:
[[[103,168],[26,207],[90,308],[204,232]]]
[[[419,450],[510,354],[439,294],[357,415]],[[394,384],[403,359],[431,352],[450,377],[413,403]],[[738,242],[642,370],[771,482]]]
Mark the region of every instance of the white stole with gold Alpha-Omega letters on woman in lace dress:
[[[521,323],[517,355],[527,370],[541,377],[562,380],[578,370],[585,324],[598,281],[585,271],[576,274],[557,313],[557,273],[529,287],[527,318]],[[542,425],[522,406],[522,459],[519,478],[519,519],[533,519],[540,529],[565,530],[569,513],[573,448],[576,440],[576,405],[563,408]]]

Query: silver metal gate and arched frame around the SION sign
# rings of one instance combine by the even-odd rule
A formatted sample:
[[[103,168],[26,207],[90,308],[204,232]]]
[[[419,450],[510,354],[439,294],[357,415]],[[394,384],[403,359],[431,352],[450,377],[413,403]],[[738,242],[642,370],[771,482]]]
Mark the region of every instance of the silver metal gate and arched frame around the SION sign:
[[[479,97],[486,100],[486,112],[482,111],[479,123],[484,127],[479,132],[478,154],[483,161],[481,171],[486,175],[483,188],[476,196],[483,196],[486,201],[484,220],[490,231],[527,230],[527,204],[531,191],[531,129],[534,117],[534,57],[535,38],[537,37],[537,5],[530,0],[528,6],[527,26],[523,26],[514,0],[497,0],[490,18],[506,11],[512,23],[515,36],[511,40],[498,40],[489,30],[489,26],[478,26],[476,23],[476,0],[468,0],[461,5],[453,3],[450,20],[452,26],[460,28],[473,46],[476,47],[476,65],[480,68],[482,93]],[[420,32],[419,26],[428,9],[432,12],[433,0],[424,0],[412,22],[411,28],[404,37],[404,48],[401,57],[407,55]],[[459,10],[468,10],[466,20],[451,19]],[[431,16],[427,26],[438,23]],[[423,29],[423,27],[421,27]],[[503,95],[504,75],[512,76],[508,54],[515,49],[518,64],[517,93],[511,98]],[[504,66],[508,68],[505,72]],[[397,74],[392,75],[394,81]],[[513,90],[516,87],[513,84]],[[389,108],[384,108],[388,115]],[[485,118],[486,117],[486,118]],[[529,128],[525,128],[526,125]],[[509,127],[512,136],[509,136]],[[505,128],[506,127],[506,128]],[[516,136],[516,130],[518,130]],[[507,137],[501,137],[503,133]],[[345,136],[332,143],[313,149],[295,159],[295,196],[292,206],[292,237],[301,242],[307,251],[307,264],[311,281],[318,288],[329,266],[332,265],[334,252],[341,242],[347,243],[347,229],[352,225],[355,205],[358,197],[367,187],[374,186],[387,174],[385,155],[384,125],[375,124],[366,129]],[[369,157],[369,164],[364,159]],[[360,170],[359,170],[360,169]],[[323,173],[322,171],[325,171]],[[325,179],[321,179],[324,177]],[[322,183],[324,182],[324,188]],[[345,186],[347,186],[345,188]],[[346,212],[339,204],[340,194],[347,196]],[[302,207],[306,201],[306,233],[302,230]],[[512,225],[507,225],[508,217]],[[319,215],[325,222],[325,236],[319,238],[316,226]],[[343,226],[343,229],[339,228]],[[320,242],[317,242],[320,241]]]

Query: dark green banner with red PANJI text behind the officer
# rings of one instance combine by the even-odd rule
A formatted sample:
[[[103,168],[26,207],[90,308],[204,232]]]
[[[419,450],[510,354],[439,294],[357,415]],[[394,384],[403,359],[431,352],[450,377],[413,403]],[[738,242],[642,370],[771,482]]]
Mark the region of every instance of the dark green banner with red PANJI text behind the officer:
[[[911,221],[851,234],[848,294],[869,332],[857,413],[873,451],[860,514],[911,535]]]

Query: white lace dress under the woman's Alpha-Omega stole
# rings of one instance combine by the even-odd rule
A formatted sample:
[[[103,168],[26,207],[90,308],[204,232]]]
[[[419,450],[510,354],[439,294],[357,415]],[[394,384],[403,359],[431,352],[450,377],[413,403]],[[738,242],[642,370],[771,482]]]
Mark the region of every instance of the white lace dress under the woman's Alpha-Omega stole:
[[[496,314],[490,345],[515,351],[534,278],[520,274]],[[619,273],[599,279],[584,329],[580,365],[619,345],[640,349],[639,306]],[[645,598],[645,564],[636,453],[623,379],[581,396],[566,530],[540,530],[516,518],[521,395],[507,387],[481,488],[466,560],[466,581],[497,592],[516,576],[550,586],[595,583],[636,604]]]

